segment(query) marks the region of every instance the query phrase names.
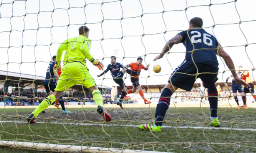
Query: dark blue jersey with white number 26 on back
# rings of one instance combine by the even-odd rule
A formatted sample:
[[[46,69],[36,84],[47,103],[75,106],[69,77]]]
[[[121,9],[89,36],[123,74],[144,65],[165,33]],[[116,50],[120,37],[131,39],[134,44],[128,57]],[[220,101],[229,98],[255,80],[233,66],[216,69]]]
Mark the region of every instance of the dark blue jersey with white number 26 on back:
[[[217,39],[205,30],[191,29],[178,33],[182,36],[182,43],[186,47],[186,63],[203,63],[218,67],[216,47],[219,45]],[[190,40],[191,39],[191,40]],[[192,44],[193,43],[193,44]],[[192,52],[195,50],[195,52]]]

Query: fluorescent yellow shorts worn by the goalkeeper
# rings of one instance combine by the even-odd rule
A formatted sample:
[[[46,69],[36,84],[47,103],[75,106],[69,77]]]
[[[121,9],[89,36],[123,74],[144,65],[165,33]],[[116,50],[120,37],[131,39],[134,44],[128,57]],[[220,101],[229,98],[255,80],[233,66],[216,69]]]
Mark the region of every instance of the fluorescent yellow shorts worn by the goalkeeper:
[[[61,75],[55,90],[67,90],[76,84],[83,85],[86,88],[96,86],[87,66],[79,62],[66,63],[61,68]]]

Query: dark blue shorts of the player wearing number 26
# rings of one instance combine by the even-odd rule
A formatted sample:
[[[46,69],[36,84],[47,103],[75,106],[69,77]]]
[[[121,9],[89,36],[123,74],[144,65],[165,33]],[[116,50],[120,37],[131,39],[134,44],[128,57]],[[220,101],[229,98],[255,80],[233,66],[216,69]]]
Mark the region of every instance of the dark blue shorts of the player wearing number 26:
[[[202,63],[196,63],[196,65],[198,68],[198,73],[203,74],[196,76],[197,68],[195,64],[186,63],[185,61],[183,61],[183,63],[180,66],[178,66],[175,69],[175,71],[173,71],[174,74],[170,76],[168,82],[172,83],[174,86],[180,89],[187,91],[191,91],[197,78],[201,79],[201,81],[203,82],[203,86],[205,88],[213,86],[215,82],[218,80],[217,76],[219,68],[216,66],[211,66]]]

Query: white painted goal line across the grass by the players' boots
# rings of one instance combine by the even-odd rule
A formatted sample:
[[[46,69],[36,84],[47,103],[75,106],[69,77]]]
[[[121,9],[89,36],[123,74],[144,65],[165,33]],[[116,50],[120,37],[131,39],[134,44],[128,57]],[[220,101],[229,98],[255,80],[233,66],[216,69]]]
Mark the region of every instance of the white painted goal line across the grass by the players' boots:
[[[6,123],[15,123],[13,121],[0,121],[0,122],[6,122]],[[28,123],[28,122],[20,122],[17,121],[16,123]],[[36,122],[36,123],[46,123],[46,122]],[[48,124],[63,124],[59,122],[48,122]],[[103,124],[91,124],[91,123],[64,123],[67,125],[103,125]],[[122,127],[138,127],[138,125],[116,125],[116,124],[104,124],[104,126],[122,126]],[[171,127],[171,126],[162,126],[162,128],[176,128],[176,127]],[[177,127],[177,128],[194,128],[194,129],[203,129],[203,127]],[[204,129],[220,129],[220,130],[231,130],[230,128],[223,128],[223,127],[204,127]],[[253,131],[256,132],[256,129],[251,129],[251,128],[232,128],[232,130],[237,130],[237,131]]]

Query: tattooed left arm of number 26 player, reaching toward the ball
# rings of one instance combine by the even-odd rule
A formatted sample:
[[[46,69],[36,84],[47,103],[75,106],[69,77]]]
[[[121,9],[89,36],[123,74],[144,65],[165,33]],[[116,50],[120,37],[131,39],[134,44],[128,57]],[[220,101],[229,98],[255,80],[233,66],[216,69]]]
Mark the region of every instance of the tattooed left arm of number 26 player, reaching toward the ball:
[[[173,37],[172,39],[170,39],[164,46],[162,53],[160,55],[158,55],[157,57],[155,57],[154,61],[160,58],[163,58],[164,54],[167,53],[167,51],[169,51],[172,46],[174,44],[178,44],[182,41],[182,36],[181,35],[176,35],[175,37]]]

